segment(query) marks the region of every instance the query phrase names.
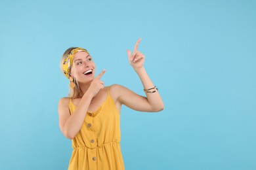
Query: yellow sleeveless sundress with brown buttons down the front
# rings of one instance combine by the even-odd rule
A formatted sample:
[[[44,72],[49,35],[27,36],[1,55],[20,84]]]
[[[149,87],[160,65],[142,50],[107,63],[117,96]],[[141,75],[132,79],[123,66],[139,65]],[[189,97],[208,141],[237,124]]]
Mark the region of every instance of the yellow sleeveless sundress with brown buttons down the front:
[[[70,112],[75,105],[70,99]],[[72,156],[68,169],[122,170],[120,115],[110,95],[95,112],[87,112],[79,133],[72,139]]]

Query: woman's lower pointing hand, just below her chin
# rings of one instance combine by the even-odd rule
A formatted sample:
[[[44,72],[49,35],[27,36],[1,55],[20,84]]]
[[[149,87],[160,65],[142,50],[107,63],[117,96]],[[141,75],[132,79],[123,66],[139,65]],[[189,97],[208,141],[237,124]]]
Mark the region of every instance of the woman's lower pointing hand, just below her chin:
[[[91,82],[89,89],[87,90],[87,92],[91,93],[93,97],[95,97],[100,89],[104,88],[104,82],[102,82],[100,78],[102,77],[102,75],[104,75],[105,72],[106,70],[104,69],[98,76],[96,76]]]

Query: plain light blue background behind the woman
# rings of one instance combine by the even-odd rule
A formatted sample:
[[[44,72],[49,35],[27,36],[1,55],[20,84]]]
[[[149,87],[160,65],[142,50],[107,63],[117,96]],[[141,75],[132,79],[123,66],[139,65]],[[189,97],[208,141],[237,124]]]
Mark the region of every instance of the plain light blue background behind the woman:
[[[126,169],[256,169],[255,1],[1,0],[0,169],[67,169],[59,61],[87,48],[106,85],[144,95],[139,37],[165,109],[121,110]]]

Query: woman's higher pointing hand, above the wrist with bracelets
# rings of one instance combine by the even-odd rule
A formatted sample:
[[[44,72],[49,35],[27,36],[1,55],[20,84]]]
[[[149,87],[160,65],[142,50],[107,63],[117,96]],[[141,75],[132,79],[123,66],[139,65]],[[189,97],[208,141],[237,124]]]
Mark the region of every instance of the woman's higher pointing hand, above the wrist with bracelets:
[[[136,42],[135,48],[133,50],[133,54],[131,54],[130,50],[127,50],[129,63],[131,64],[131,66],[133,66],[134,69],[142,68],[144,65],[144,61],[145,61],[144,54],[142,54],[141,52],[138,51],[140,41],[141,41],[141,39],[139,39]]]

